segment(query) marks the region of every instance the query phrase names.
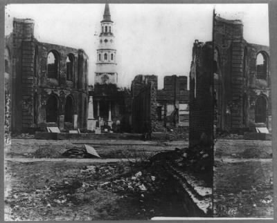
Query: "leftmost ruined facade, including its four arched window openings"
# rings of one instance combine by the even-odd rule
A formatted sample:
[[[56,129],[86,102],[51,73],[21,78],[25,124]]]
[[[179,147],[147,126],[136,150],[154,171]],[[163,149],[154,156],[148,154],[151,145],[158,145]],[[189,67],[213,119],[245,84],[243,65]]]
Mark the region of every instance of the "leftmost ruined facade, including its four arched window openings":
[[[5,49],[12,131],[86,128],[87,71],[84,50],[39,42],[32,19],[14,19]]]

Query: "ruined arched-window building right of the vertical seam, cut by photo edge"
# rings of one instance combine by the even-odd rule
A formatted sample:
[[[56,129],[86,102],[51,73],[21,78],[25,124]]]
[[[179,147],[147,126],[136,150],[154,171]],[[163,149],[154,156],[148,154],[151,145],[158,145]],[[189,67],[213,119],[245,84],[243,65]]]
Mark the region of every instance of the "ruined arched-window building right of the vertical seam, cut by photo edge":
[[[271,130],[269,47],[248,43],[240,20],[215,17],[213,37],[217,130]]]

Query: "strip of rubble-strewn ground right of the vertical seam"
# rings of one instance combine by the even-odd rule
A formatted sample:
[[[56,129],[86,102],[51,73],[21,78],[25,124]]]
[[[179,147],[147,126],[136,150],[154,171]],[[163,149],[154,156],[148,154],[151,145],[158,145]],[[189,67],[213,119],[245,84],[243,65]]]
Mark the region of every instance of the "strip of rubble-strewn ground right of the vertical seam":
[[[270,141],[220,139],[215,146],[215,217],[273,217]]]

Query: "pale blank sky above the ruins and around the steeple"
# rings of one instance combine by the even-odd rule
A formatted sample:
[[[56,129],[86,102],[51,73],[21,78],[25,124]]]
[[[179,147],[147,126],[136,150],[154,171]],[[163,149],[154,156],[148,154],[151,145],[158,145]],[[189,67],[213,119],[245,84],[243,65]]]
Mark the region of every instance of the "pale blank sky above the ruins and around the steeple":
[[[89,84],[94,83],[102,4],[10,4],[5,34],[12,18],[35,20],[35,38],[89,56]],[[213,8],[225,19],[241,19],[244,39],[269,46],[267,4],[109,4],[118,70],[118,86],[129,87],[136,75],[189,75],[195,39],[211,41]]]

